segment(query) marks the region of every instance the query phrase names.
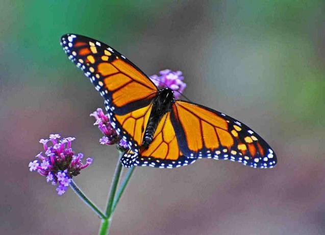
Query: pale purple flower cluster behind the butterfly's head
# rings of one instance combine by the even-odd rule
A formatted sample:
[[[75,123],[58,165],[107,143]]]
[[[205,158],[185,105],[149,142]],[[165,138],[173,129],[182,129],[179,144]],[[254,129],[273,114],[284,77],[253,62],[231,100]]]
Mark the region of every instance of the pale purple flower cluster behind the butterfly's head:
[[[174,91],[178,91],[174,92],[174,97],[178,99],[186,87],[186,83],[183,81],[183,73],[181,71],[172,72],[170,69],[165,69],[160,71],[159,74],[160,76],[150,76],[150,79],[159,89],[169,87]]]

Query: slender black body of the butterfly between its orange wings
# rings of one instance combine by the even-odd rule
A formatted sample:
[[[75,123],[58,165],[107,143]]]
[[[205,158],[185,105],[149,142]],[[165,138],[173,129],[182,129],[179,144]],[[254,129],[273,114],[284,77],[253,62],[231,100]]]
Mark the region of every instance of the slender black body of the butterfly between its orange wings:
[[[153,100],[152,110],[144,131],[142,146],[147,148],[153,141],[157,125],[164,114],[171,110],[174,100],[174,93],[169,88],[158,90],[157,97]]]

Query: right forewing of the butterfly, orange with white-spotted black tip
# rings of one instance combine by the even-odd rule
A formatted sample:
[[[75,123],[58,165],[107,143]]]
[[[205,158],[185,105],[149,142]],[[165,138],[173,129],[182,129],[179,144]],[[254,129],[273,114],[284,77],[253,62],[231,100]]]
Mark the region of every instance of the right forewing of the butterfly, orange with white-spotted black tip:
[[[255,168],[277,164],[276,154],[265,140],[230,116],[176,101],[170,117],[180,150],[189,158],[230,159]]]

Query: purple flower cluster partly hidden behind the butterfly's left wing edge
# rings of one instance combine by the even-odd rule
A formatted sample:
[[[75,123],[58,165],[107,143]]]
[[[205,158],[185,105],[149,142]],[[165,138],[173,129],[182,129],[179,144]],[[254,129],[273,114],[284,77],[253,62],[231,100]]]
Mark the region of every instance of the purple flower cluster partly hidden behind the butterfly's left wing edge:
[[[108,115],[105,115],[101,108],[97,108],[97,110],[91,113],[90,116],[95,117],[96,122],[94,125],[98,125],[98,129],[104,134],[104,136],[99,139],[99,143],[102,145],[114,145],[119,143],[119,147],[123,149],[128,148],[126,140],[120,139],[112,127]]]

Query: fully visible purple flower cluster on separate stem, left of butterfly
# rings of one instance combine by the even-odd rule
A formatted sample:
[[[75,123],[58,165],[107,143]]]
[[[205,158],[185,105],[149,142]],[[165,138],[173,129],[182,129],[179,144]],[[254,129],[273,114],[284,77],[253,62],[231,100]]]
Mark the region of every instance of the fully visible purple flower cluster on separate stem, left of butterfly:
[[[36,155],[37,160],[31,161],[28,165],[30,171],[37,171],[40,175],[46,176],[47,182],[58,185],[56,191],[61,196],[67,191],[73,176],[80,174],[80,171],[92,163],[92,158],[87,158],[82,163],[83,154],[74,154],[71,149],[71,142],[74,137],[61,138],[58,134],[49,135],[49,139],[41,139],[44,155],[42,152]],[[52,143],[53,146],[48,146]]]

